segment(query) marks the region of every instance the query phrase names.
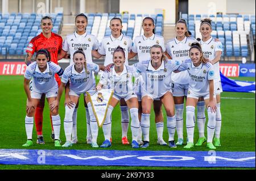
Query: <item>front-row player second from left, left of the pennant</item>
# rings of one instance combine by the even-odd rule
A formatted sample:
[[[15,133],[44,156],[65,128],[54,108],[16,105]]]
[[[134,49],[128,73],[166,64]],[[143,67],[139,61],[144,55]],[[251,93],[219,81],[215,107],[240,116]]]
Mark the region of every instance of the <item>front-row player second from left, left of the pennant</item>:
[[[68,93],[69,96],[68,96],[68,99],[67,98],[65,99],[65,118],[64,118],[64,130],[65,130],[66,142],[64,145],[62,145],[63,147],[72,146],[72,142],[71,142],[71,134],[72,134],[72,128],[73,128],[72,115],[75,110],[76,104],[79,101],[80,95],[84,94],[84,98],[86,101],[85,92],[88,90],[95,89],[93,72],[98,73],[100,69],[105,70],[105,66],[98,66],[97,64],[94,64],[94,63],[86,64],[85,54],[82,48],[79,48],[79,50],[76,50],[76,52],[73,54],[73,61],[74,61],[74,64],[69,65],[65,69],[63,73],[63,77],[61,78],[61,85],[59,88],[57,99],[51,104],[52,109],[59,107],[59,102],[60,102],[62,92],[66,84],[69,82],[70,83],[69,93]],[[91,107],[90,102],[86,101],[86,103],[88,105],[88,108]],[[92,116],[92,120],[95,120],[95,116],[93,115],[93,113],[92,115],[90,113],[90,116]]]

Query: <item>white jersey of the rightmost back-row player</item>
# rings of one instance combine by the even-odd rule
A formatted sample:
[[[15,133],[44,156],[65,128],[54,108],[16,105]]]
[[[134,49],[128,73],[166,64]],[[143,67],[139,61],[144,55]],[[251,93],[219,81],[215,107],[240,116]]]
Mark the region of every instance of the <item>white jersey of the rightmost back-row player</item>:
[[[217,51],[222,52],[222,44],[220,41],[214,41],[213,37],[210,37],[209,40],[207,41],[200,41],[204,57],[209,58],[209,60],[213,60],[215,58],[215,54]],[[214,69],[214,82],[219,82],[220,79],[220,64],[217,62],[216,64],[213,64],[213,69]]]

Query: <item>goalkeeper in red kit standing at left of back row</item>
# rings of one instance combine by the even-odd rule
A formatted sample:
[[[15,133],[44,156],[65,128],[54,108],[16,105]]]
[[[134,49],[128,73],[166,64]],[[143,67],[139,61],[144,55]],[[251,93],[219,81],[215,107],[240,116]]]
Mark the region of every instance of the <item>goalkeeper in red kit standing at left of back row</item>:
[[[57,35],[56,33],[52,32],[52,19],[49,16],[44,16],[41,20],[40,24],[42,28],[42,33],[40,35],[34,37],[31,39],[30,43],[27,46],[26,52],[27,56],[25,58],[25,63],[27,65],[31,64],[32,56],[35,52],[37,52],[39,49],[47,49],[50,53],[51,61],[55,64],[58,64],[57,62],[57,54],[62,49],[62,37]],[[60,78],[59,75],[55,74],[55,79],[60,85]],[[43,110],[44,110],[44,102],[45,102],[45,95],[42,95],[42,98],[40,99],[40,103],[36,107],[35,110],[35,125],[36,125],[36,133],[38,135],[38,140],[36,141],[37,144],[44,144],[43,139]],[[51,118],[51,116],[50,116]],[[52,125],[52,119],[51,119],[51,125]],[[51,138],[54,141],[55,135],[53,131],[52,126],[52,133]]]

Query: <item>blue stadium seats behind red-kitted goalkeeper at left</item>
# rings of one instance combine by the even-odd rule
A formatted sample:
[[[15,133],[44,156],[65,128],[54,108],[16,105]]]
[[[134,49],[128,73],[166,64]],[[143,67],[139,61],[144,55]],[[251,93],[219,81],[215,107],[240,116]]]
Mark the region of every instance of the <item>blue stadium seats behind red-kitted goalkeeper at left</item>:
[[[60,33],[63,26],[63,14],[47,14],[53,22],[52,32]],[[42,14],[0,14],[0,52],[1,55],[22,55],[29,41],[42,30]]]

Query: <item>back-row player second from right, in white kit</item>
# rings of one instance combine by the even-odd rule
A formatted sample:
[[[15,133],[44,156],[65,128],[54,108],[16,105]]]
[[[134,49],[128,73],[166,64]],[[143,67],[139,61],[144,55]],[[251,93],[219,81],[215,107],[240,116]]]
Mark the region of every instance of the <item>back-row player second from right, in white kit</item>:
[[[184,19],[177,21],[175,26],[176,37],[168,41],[166,45],[167,53],[175,61],[181,64],[189,58],[189,48],[196,40],[189,37],[187,23]],[[184,98],[187,96],[189,83],[189,74],[187,71],[172,73],[172,94],[174,95],[175,112],[176,112],[176,129],[178,140],[176,145],[183,145],[183,110]]]

